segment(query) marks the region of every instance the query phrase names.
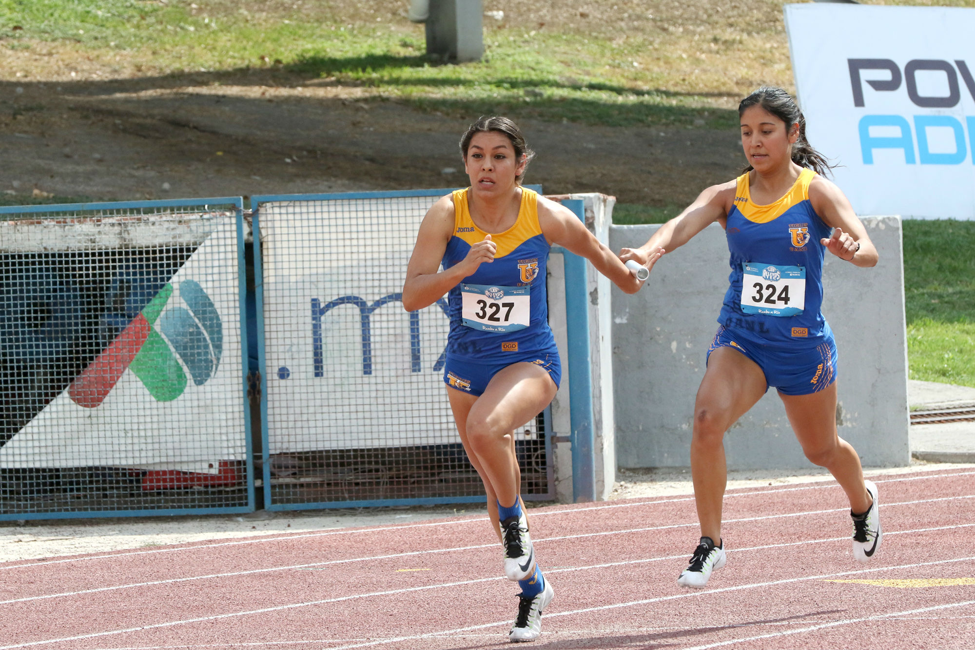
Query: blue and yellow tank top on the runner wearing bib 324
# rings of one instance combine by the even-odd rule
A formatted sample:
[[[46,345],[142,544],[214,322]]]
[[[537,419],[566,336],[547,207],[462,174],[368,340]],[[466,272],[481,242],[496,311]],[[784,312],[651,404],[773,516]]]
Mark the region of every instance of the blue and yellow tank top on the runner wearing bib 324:
[[[826,249],[819,240],[833,228],[809,202],[815,176],[803,169],[769,205],[752,201],[748,173],[738,177],[724,228],[731,273],[718,322],[756,343],[815,346],[830,334],[820,311]]]

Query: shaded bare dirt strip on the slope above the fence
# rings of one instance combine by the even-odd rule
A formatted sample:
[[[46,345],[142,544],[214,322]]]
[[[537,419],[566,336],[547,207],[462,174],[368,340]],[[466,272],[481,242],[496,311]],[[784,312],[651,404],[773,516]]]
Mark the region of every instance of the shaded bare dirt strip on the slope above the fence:
[[[467,118],[361,92],[274,70],[0,82],[0,191],[137,200],[466,184]],[[686,204],[744,162],[734,132],[522,127],[538,153],[526,182],[547,193]]]

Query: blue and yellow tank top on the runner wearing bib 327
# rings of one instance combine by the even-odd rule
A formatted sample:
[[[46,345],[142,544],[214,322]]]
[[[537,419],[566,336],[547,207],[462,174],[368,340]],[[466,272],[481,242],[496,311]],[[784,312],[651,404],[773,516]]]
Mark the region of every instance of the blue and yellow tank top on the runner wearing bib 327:
[[[453,192],[445,270],[487,235],[471,219],[468,189]],[[478,266],[448,293],[448,355],[503,361],[555,348],[545,295],[549,244],[538,223],[536,192],[522,188],[518,220],[504,232],[491,233],[491,241],[497,244],[494,262]]]

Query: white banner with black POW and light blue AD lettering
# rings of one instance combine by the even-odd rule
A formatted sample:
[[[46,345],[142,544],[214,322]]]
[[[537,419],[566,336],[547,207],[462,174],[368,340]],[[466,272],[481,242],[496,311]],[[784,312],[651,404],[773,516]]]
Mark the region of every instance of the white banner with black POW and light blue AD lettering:
[[[975,9],[786,5],[809,142],[860,215],[975,219]]]

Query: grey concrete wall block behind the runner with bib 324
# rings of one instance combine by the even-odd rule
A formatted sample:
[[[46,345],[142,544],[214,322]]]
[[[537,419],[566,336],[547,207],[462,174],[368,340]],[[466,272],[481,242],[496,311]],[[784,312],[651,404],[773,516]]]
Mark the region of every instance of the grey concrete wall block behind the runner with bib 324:
[[[864,465],[910,463],[901,223],[863,220],[880,262],[858,268],[827,254],[823,313],[839,349],[839,435]],[[639,246],[659,225],[613,225],[609,247]],[[668,253],[636,296],[612,289],[616,457],[620,467],[685,467],[694,396],[727,289],[718,224]],[[730,468],[809,467],[769,390],[725,436]]]

